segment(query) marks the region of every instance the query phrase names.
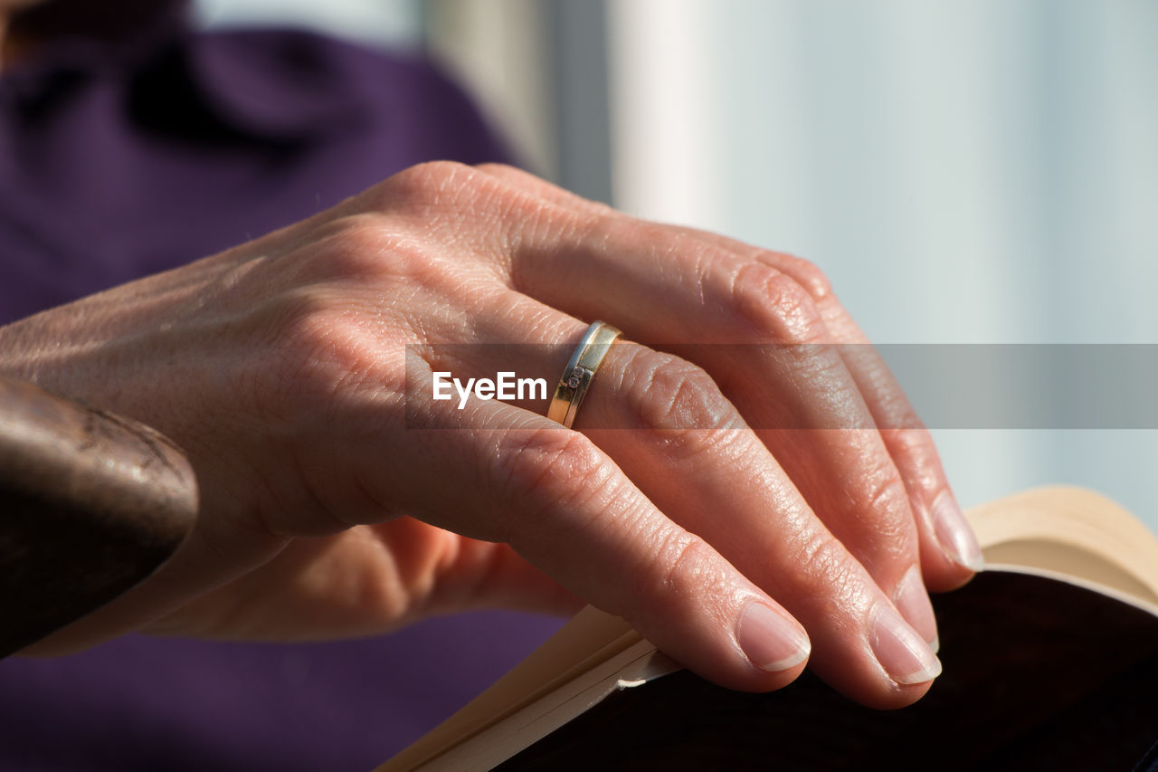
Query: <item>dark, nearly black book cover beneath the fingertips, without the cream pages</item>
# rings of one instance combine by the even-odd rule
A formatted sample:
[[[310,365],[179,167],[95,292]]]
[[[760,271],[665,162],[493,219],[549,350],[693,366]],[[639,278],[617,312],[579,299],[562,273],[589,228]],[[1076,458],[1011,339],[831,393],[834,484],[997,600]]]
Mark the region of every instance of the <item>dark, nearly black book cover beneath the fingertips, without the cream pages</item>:
[[[1006,571],[933,604],[945,669],[910,707],[862,707],[811,672],[749,694],[681,671],[613,693],[498,769],[1130,772],[1158,743],[1158,617]]]

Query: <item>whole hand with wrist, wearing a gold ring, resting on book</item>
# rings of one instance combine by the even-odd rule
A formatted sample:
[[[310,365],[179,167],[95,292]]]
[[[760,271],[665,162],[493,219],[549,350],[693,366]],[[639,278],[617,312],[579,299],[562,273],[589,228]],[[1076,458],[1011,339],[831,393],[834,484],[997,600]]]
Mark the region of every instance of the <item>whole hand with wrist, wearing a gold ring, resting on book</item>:
[[[545,400],[431,398],[433,371],[554,389],[593,319],[625,340],[578,431]],[[834,686],[906,705],[939,669],[925,585],[963,583],[980,552],[868,347],[753,348],[858,341],[804,261],[506,167],[411,168],[0,330],[0,370],[168,434],[201,487],[170,563],[36,651],[581,598],[726,686],[783,686],[811,636]],[[556,345],[441,345],[475,343]],[[777,429],[800,420],[836,428]]]

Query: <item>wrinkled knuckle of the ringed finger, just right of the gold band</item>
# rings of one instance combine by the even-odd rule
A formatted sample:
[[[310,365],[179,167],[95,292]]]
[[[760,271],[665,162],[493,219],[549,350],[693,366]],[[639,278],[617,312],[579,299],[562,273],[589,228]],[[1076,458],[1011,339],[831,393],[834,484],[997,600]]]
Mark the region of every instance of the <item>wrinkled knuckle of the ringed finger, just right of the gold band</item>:
[[[739,413],[703,369],[680,357],[642,350],[630,365],[635,381],[628,409],[653,430],[724,429],[742,425]],[[703,432],[683,432],[694,437]]]

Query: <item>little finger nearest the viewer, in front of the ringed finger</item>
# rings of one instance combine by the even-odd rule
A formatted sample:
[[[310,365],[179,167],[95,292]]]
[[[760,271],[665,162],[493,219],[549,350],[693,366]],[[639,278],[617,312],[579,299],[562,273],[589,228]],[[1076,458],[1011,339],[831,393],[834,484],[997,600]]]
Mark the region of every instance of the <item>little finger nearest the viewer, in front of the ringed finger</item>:
[[[428,373],[412,374],[431,393]],[[808,641],[791,616],[589,439],[494,401],[419,409],[431,428],[408,430],[405,474],[425,483],[409,502],[424,519],[507,541],[717,683],[765,691],[802,670]]]

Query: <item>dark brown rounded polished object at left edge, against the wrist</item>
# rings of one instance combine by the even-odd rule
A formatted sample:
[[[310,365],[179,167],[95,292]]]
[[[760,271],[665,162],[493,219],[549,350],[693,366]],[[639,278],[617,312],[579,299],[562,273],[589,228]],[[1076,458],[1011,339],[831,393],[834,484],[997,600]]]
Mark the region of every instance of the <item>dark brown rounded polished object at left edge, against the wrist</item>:
[[[151,575],[196,516],[192,468],[162,435],[0,378],[0,656]]]

